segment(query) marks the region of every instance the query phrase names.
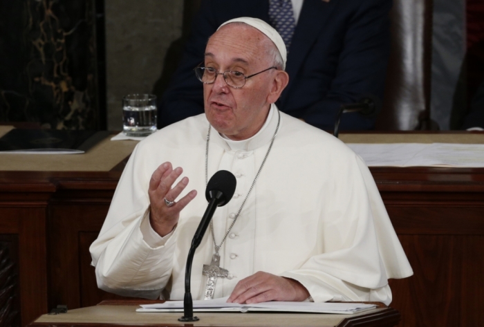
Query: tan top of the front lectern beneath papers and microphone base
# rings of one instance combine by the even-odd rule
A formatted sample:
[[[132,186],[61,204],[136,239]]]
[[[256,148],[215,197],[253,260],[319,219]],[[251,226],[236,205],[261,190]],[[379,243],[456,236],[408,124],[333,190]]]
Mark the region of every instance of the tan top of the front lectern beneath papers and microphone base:
[[[59,315],[42,315],[28,326],[94,327],[94,326],[227,326],[227,327],[286,327],[286,326],[358,326],[393,327],[400,313],[393,308],[376,308],[355,315],[324,315],[313,313],[212,313],[195,312],[200,320],[193,324],[178,321],[183,313],[139,313],[139,306],[91,306],[68,310]]]

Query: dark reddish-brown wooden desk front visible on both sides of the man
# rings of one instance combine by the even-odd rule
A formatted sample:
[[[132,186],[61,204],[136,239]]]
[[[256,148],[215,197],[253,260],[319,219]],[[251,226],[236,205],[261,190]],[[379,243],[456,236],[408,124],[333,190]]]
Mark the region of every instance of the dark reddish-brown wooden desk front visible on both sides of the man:
[[[395,137],[458,142],[463,136],[484,143],[484,133],[341,137],[348,142]],[[117,142],[109,144],[120,144]],[[135,143],[128,144],[133,147]],[[5,158],[0,155],[0,162]],[[31,170],[38,171],[0,171],[0,245],[9,249],[8,259],[15,263],[18,274],[14,278],[17,297],[7,307],[0,296],[0,308],[19,312],[21,326],[57,304],[74,309],[117,298],[97,289],[89,245],[100,231],[122,165],[112,163],[104,171],[68,171],[69,167],[86,170],[89,166],[89,162],[77,162],[77,166],[64,167],[67,171],[47,171],[31,158],[26,156],[24,161],[30,160]],[[480,313],[484,298],[484,169],[370,170],[415,273],[390,281],[391,306],[402,314],[399,326],[484,326]],[[0,276],[0,292],[4,288]]]

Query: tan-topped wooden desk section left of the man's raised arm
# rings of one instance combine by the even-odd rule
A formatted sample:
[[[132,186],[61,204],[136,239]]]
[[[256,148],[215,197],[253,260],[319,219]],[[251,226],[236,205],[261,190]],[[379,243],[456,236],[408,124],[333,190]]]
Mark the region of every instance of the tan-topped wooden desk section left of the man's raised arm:
[[[0,126],[0,136],[10,129]],[[89,243],[137,143],[106,138],[84,154],[0,154],[0,326],[26,326],[58,303],[86,306],[81,289],[99,303],[93,280],[82,288],[80,266],[89,269]]]

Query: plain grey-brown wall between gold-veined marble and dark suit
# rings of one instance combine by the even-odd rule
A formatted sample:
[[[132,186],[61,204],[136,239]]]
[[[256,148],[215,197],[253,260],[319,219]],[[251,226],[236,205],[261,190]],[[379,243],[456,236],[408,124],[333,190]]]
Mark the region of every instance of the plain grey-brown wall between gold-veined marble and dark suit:
[[[121,99],[151,93],[182,30],[183,0],[106,0],[108,129],[122,129]]]

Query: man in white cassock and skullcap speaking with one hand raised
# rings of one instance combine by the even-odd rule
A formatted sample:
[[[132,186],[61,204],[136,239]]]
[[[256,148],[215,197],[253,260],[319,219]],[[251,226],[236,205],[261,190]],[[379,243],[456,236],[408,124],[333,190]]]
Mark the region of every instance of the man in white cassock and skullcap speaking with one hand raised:
[[[206,180],[225,169],[236,190],[195,252],[194,299],[391,302],[388,279],[413,272],[375,182],[337,138],[278,111],[285,64],[283,40],[259,19],[210,37],[195,69],[205,114],[133,151],[90,249],[100,288],[183,299]]]

